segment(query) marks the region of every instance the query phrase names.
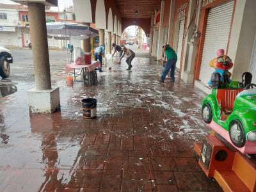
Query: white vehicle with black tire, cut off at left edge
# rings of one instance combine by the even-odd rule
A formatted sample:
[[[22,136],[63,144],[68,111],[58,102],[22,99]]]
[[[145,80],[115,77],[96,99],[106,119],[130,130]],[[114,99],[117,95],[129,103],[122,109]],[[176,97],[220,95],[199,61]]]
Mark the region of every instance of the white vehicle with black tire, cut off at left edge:
[[[10,76],[11,68],[10,63],[13,63],[12,52],[9,49],[4,48],[4,45],[0,43],[0,76],[7,78]]]

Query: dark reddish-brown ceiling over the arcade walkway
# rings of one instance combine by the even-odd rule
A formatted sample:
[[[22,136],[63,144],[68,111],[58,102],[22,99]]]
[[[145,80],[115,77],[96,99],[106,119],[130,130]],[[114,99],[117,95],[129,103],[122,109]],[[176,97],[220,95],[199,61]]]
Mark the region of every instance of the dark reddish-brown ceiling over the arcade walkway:
[[[134,18],[134,12],[138,12],[136,18],[151,18],[161,6],[162,0],[115,0],[116,7],[124,18]]]

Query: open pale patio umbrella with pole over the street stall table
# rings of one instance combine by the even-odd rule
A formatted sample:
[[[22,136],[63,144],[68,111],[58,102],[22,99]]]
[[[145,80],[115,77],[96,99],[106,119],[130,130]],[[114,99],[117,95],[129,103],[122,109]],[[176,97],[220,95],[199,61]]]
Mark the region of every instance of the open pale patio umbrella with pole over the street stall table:
[[[46,24],[47,33],[65,35],[67,44],[67,35],[85,35],[94,38],[99,35],[99,31],[90,28],[90,26],[84,26],[83,24],[77,24],[75,22],[48,22]],[[68,61],[68,49],[67,49],[67,61]]]

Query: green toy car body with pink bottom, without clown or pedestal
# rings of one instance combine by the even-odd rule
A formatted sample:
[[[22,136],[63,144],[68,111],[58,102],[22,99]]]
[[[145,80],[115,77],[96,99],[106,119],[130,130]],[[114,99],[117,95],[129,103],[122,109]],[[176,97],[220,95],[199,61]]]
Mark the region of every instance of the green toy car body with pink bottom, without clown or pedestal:
[[[213,88],[202,103],[202,118],[235,147],[244,147],[241,152],[256,153],[256,84],[246,84],[245,88]]]

